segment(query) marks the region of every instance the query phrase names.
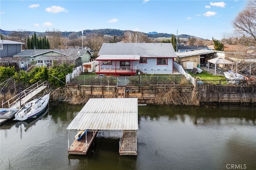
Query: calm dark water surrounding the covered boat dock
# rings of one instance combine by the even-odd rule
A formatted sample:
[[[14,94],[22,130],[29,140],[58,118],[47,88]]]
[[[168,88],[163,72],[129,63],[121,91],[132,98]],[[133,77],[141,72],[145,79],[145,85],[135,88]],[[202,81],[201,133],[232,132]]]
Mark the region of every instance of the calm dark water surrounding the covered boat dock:
[[[256,169],[256,107],[139,106],[137,156],[119,156],[120,133],[109,131],[100,133],[88,155],[68,155],[66,127],[82,107],[51,102],[35,122],[2,125],[0,169]]]

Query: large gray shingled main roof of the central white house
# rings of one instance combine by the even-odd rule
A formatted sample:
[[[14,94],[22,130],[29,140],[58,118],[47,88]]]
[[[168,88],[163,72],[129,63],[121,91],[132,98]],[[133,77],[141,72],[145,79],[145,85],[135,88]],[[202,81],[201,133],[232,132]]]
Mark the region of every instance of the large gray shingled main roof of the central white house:
[[[176,53],[171,43],[103,43],[100,55],[140,55],[140,57],[171,57]]]

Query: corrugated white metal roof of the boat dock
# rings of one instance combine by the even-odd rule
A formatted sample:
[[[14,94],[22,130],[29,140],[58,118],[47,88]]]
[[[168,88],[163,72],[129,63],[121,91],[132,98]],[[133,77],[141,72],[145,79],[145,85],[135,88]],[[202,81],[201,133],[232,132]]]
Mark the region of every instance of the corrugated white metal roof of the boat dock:
[[[138,130],[138,99],[91,98],[67,129]]]

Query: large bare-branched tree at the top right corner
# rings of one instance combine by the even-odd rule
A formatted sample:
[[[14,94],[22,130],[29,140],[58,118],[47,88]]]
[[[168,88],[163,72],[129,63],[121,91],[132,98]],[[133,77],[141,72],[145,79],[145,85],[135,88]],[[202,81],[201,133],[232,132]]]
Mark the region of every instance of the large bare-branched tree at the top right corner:
[[[244,10],[238,13],[232,26],[235,33],[246,38],[248,44],[244,44],[256,48],[256,0],[248,0]]]

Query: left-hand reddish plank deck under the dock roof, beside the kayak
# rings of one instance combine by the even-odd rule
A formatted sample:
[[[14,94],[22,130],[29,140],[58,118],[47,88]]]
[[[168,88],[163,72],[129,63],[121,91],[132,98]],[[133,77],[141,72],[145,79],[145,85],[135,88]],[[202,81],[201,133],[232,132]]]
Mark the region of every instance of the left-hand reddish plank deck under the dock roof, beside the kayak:
[[[87,147],[86,135],[84,135],[80,140],[75,139],[71,146],[68,148],[68,154],[86,155],[97,133],[98,132],[87,132]]]

